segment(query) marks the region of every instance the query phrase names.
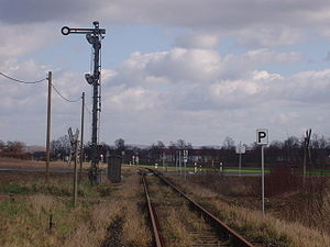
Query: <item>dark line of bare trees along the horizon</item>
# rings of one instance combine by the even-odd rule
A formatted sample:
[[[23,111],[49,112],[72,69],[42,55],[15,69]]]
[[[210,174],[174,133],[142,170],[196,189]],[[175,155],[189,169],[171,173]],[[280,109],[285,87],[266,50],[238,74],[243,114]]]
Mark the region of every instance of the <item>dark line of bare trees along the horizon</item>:
[[[260,162],[260,146],[256,143],[243,144],[246,153],[243,155],[243,162],[246,166],[253,166]],[[265,148],[265,161],[267,164],[290,164],[299,166],[302,162],[305,151],[305,137],[289,136],[284,141],[273,141]],[[61,136],[52,141],[52,159],[63,159],[69,155],[70,142],[67,135]],[[162,141],[157,141],[148,146],[128,145],[123,138],[118,138],[112,145],[101,143],[99,146],[99,155],[107,157],[108,155],[121,155],[124,162],[130,162],[133,156],[139,156],[141,164],[162,162],[164,155],[172,156],[172,162],[175,162],[178,150],[189,150],[189,156],[198,154],[204,157],[205,162],[223,162],[228,166],[235,166],[238,155],[235,154],[235,142],[231,137],[226,137],[222,145],[219,146],[193,146],[191,143],[184,139],[170,142],[165,145]],[[0,141],[0,154],[20,154],[24,153],[26,145],[23,142]],[[43,157],[44,153],[37,153]],[[308,162],[311,166],[327,165],[330,155],[330,138],[322,135],[314,134],[310,138],[308,148]],[[84,145],[84,159],[90,160],[90,143]],[[36,154],[33,154],[36,157]],[[105,159],[106,160],[106,159]],[[189,159],[191,160],[191,159]],[[202,161],[201,160],[201,161]],[[101,160],[103,161],[103,160]],[[188,161],[189,162],[189,161]]]

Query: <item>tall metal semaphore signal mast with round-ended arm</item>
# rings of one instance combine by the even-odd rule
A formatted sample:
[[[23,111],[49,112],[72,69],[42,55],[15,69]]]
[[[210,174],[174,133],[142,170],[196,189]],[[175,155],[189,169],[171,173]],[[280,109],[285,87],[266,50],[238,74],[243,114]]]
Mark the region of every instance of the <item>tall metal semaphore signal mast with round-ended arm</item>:
[[[85,78],[89,85],[92,86],[92,123],[91,123],[91,165],[89,169],[89,180],[91,184],[99,183],[99,155],[98,155],[98,114],[101,111],[100,108],[100,49],[102,34],[106,34],[105,29],[99,27],[99,22],[95,21],[94,29],[70,29],[68,26],[62,27],[62,34],[68,35],[70,33],[75,34],[86,34],[86,38],[94,48],[94,72],[92,75],[86,74]]]

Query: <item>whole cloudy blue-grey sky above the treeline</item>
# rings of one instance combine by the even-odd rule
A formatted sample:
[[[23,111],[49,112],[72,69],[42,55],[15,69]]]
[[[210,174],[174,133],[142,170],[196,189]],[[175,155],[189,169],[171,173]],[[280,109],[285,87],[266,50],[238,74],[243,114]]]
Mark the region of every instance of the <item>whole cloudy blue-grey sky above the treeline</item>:
[[[53,72],[91,109],[91,46],[63,26],[107,30],[100,142],[194,146],[330,137],[329,0],[0,0],[0,72]],[[47,82],[0,77],[0,139],[45,145]],[[81,101],[52,96],[52,138],[80,128]],[[85,139],[91,136],[86,111]]]

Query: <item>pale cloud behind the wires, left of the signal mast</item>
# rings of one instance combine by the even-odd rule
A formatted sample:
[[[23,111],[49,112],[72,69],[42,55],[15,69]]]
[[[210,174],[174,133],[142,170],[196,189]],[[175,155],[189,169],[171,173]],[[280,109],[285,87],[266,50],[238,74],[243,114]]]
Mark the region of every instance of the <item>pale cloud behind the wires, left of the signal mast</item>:
[[[89,104],[90,89],[87,83],[81,83],[82,76],[79,74],[54,69],[34,60],[22,63],[9,59],[0,63],[0,71],[25,81],[46,78],[50,70],[53,71],[53,85],[64,97],[78,99],[81,92],[86,91],[87,104]],[[81,101],[68,103],[55,90],[52,94],[52,136],[56,138],[65,135],[69,126],[80,126],[81,104],[79,102]],[[46,130],[47,81],[23,85],[0,77],[0,98],[1,139],[18,139],[43,145]],[[88,124],[89,121],[86,122]]]

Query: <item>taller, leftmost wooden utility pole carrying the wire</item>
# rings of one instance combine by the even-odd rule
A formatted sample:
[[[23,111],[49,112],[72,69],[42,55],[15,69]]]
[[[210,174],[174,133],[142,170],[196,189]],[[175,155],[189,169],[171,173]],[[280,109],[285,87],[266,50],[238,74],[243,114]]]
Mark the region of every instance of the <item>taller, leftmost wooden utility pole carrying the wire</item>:
[[[52,71],[48,71],[47,133],[46,133],[46,182],[50,181],[51,125],[52,125]]]

